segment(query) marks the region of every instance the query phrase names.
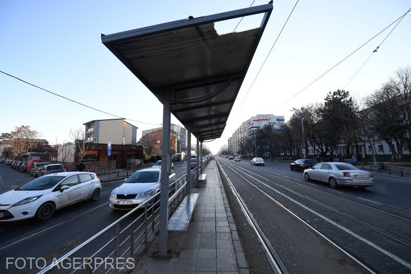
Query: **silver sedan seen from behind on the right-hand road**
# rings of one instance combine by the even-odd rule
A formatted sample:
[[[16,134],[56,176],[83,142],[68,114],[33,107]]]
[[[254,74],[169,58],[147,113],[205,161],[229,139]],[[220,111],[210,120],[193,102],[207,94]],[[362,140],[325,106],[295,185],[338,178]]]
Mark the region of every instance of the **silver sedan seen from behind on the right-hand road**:
[[[304,178],[327,182],[330,187],[356,186],[358,188],[372,187],[374,176],[372,172],[364,171],[350,163],[321,162],[304,171]]]

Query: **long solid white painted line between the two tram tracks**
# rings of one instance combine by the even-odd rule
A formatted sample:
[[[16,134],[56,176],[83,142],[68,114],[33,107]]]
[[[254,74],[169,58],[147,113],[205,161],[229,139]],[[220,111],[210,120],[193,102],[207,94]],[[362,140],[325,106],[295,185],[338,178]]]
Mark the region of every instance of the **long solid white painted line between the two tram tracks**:
[[[250,175],[249,175],[249,176],[250,176]],[[252,177],[252,176],[250,176],[250,177]],[[254,177],[252,177],[252,178],[254,178]],[[330,220],[330,219],[327,218],[326,216],[321,215],[320,213],[318,213],[318,212],[316,212],[316,211],[314,211],[314,210],[306,207],[305,205],[301,204],[300,202],[297,202],[297,201],[294,200],[293,198],[291,198],[291,197],[287,196],[286,194],[284,194],[284,193],[282,193],[282,192],[280,192],[280,191],[272,188],[271,186],[265,184],[264,182],[258,180],[257,178],[254,178],[254,179],[255,179],[256,181],[260,182],[260,184],[265,185],[266,187],[268,187],[268,188],[272,189],[273,191],[277,192],[278,194],[280,194],[280,195],[284,196],[285,198],[291,200],[291,202],[295,203],[296,205],[299,205],[299,206],[301,206],[302,208],[310,211],[311,213],[319,216],[320,218],[324,219],[326,222],[328,222],[328,223],[330,223],[330,224],[332,224],[332,225],[334,225],[334,226],[342,229],[343,231],[347,232],[348,234],[352,235],[353,237],[357,238],[358,240],[360,240],[360,241],[364,242],[365,244],[367,244],[367,245],[369,245],[369,246],[377,249],[378,251],[384,253],[387,257],[389,257],[389,258],[391,258],[391,259],[399,262],[400,264],[404,265],[405,267],[411,269],[411,263],[408,263],[408,262],[402,260],[401,258],[397,257],[395,254],[393,254],[393,253],[391,253],[391,252],[383,249],[382,247],[380,247],[380,246],[378,246],[378,245],[376,245],[376,244],[368,241],[367,239],[363,238],[362,236],[358,235],[357,233],[354,233],[353,231],[349,230],[348,228],[346,228],[346,227],[344,227],[344,226],[342,226],[342,225],[340,225],[340,224],[338,224],[338,223],[335,223],[334,221]]]

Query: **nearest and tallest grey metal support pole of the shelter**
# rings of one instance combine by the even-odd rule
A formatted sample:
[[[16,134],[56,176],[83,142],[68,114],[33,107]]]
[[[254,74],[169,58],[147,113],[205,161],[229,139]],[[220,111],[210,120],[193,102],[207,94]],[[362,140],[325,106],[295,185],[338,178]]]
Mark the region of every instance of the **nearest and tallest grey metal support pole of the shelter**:
[[[170,101],[163,100],[163,135],[161,144],[160,230],[159,253],[167,253],[167,230],[169,223],[169,151],[170,151]]]

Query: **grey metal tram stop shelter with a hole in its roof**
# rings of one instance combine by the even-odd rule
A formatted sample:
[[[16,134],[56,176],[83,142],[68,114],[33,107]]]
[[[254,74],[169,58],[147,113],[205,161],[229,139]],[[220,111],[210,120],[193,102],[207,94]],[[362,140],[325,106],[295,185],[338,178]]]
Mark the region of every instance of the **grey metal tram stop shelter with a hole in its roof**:
[[[171,113],[199,142],[221,137],[271,11],[269,4],[104,35],[102,43],[163,104],[161,192],[171,169]],[[217,33],[215,23],[262,15],[259,27]],[[198,167],[198,160],[197,160]],[[187,174],[191,163],[187,161]],[[198,172],[197,172],[198,174]],[[198,178],[197,178],[198,179]],[[188,176],[187,192],[191,182]],[[159,253],[167,252],[167,195],[160,196]]]

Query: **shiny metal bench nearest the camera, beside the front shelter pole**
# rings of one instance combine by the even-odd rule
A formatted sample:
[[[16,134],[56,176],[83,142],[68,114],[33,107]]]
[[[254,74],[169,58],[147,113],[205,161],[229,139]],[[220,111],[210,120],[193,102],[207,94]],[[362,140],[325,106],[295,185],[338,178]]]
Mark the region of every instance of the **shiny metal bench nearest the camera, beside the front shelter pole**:
[[[169,236],[185,233],[189,228],[191,219],[194,220],[194,208],[197,204],[199,193],[189,193],[185,195],[180,205],[169,220]]]

